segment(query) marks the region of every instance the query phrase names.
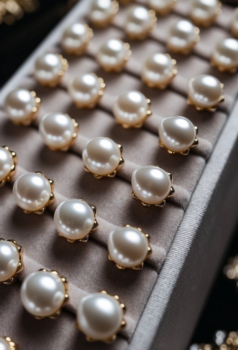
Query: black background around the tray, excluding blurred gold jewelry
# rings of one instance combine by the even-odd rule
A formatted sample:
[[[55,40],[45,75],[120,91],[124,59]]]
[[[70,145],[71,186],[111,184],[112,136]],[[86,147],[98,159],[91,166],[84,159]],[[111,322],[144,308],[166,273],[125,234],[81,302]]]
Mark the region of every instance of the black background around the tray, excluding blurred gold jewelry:
[[[10,26],[5,23],[0,25],[0,85],[14,73],[68,12],[73,3],[73,0],[39,1],[39,7],[35,12],[24,14],[21,20],[16,20]],[[236,254],[238,254],[238,227],[234,231],[230,248],[221,262],[220,271],[191,343],[213,342],[213,335],[217,329],[227,332],[238,329],[238,289],[235,281],[227,279],[222,271],[228,258]]]

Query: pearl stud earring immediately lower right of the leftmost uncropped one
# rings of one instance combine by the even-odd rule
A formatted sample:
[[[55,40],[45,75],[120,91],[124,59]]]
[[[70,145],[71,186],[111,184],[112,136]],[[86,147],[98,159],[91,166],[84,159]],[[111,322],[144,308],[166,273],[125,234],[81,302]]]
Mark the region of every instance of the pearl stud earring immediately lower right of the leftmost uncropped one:
[[[64,113],[48,113],[39,123],[39,133],[51,151],[68,151],[77,136],[76,121]]]

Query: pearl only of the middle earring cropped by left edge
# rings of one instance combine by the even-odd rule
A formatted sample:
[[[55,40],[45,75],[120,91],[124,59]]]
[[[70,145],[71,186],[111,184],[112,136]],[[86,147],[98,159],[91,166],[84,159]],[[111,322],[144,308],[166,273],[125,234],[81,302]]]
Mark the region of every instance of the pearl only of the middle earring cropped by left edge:
[[[16,246],[0,240],[0,282],[7,281],[16,274],[20,256]]]

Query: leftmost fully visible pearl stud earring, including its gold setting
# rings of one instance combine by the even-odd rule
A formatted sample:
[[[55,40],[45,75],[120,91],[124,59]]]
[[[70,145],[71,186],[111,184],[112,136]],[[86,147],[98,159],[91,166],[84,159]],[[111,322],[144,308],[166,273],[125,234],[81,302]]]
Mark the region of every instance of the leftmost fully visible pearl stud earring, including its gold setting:
[[[37,117],[40,98],[35,91],[19,88],[9,92],[4,107],[15,125],[30,125]]]

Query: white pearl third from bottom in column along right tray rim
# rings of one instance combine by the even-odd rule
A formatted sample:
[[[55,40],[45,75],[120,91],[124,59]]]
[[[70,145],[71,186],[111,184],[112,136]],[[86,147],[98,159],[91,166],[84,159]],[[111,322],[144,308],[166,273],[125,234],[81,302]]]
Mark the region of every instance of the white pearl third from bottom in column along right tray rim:
[[[163,202],[171,190],[171,180],[165,170],[148,165],[132,174],[132,189],[139,200],[147,204]]]

